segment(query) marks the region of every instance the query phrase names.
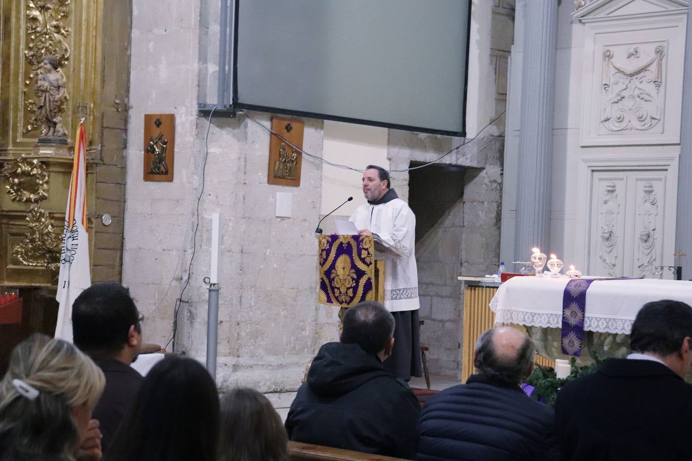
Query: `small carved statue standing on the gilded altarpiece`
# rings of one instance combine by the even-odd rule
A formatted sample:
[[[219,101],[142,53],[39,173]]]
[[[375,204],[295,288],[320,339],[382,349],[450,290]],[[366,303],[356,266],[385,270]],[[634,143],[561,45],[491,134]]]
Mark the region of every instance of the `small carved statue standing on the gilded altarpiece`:
[[[36,93],[40,98],[37,106],[41,116],[41,135],[62,138],[67,135],[62,125],[62,112],[68,100],[65,90],[65,76],[60,70],[60,62],[55,56],[43,59],[43,70],[38,77]]]

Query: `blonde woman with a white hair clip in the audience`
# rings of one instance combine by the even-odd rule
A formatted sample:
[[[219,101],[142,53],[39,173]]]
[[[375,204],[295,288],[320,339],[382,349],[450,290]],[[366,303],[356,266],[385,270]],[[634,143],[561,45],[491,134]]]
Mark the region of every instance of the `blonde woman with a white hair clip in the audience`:
[[[0,381],[0,460],[100,459],[91,410],[104,383],[72,344],[45,335],[22,341]]]

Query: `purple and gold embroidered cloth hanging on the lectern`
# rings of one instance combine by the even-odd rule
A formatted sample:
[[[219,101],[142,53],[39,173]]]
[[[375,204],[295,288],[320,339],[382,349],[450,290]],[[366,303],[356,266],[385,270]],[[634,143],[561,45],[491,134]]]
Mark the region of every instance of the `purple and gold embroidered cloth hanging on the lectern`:
[[[350,307],[372,301],[374,241],[372,236],[320,235],[318,303]]]

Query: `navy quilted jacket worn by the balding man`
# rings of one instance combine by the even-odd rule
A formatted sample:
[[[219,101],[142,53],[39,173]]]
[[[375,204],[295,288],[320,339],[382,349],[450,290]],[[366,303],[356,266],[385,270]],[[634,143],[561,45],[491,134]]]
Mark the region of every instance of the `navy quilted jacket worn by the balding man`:
[[[552,409],[480,375],[430,397],[416,438],[424,461],[558,458]]]

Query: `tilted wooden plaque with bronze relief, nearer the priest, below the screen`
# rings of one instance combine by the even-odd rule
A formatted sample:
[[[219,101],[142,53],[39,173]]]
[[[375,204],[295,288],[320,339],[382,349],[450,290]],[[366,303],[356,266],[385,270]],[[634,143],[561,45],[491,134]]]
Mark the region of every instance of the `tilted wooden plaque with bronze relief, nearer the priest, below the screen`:
[[[266,180],[269,184],[300,186],[302,152],[299,149],[302,149],[304,126],[301,120],[271,117],[271,131],[279,133],[284,139],[271,135]]]

